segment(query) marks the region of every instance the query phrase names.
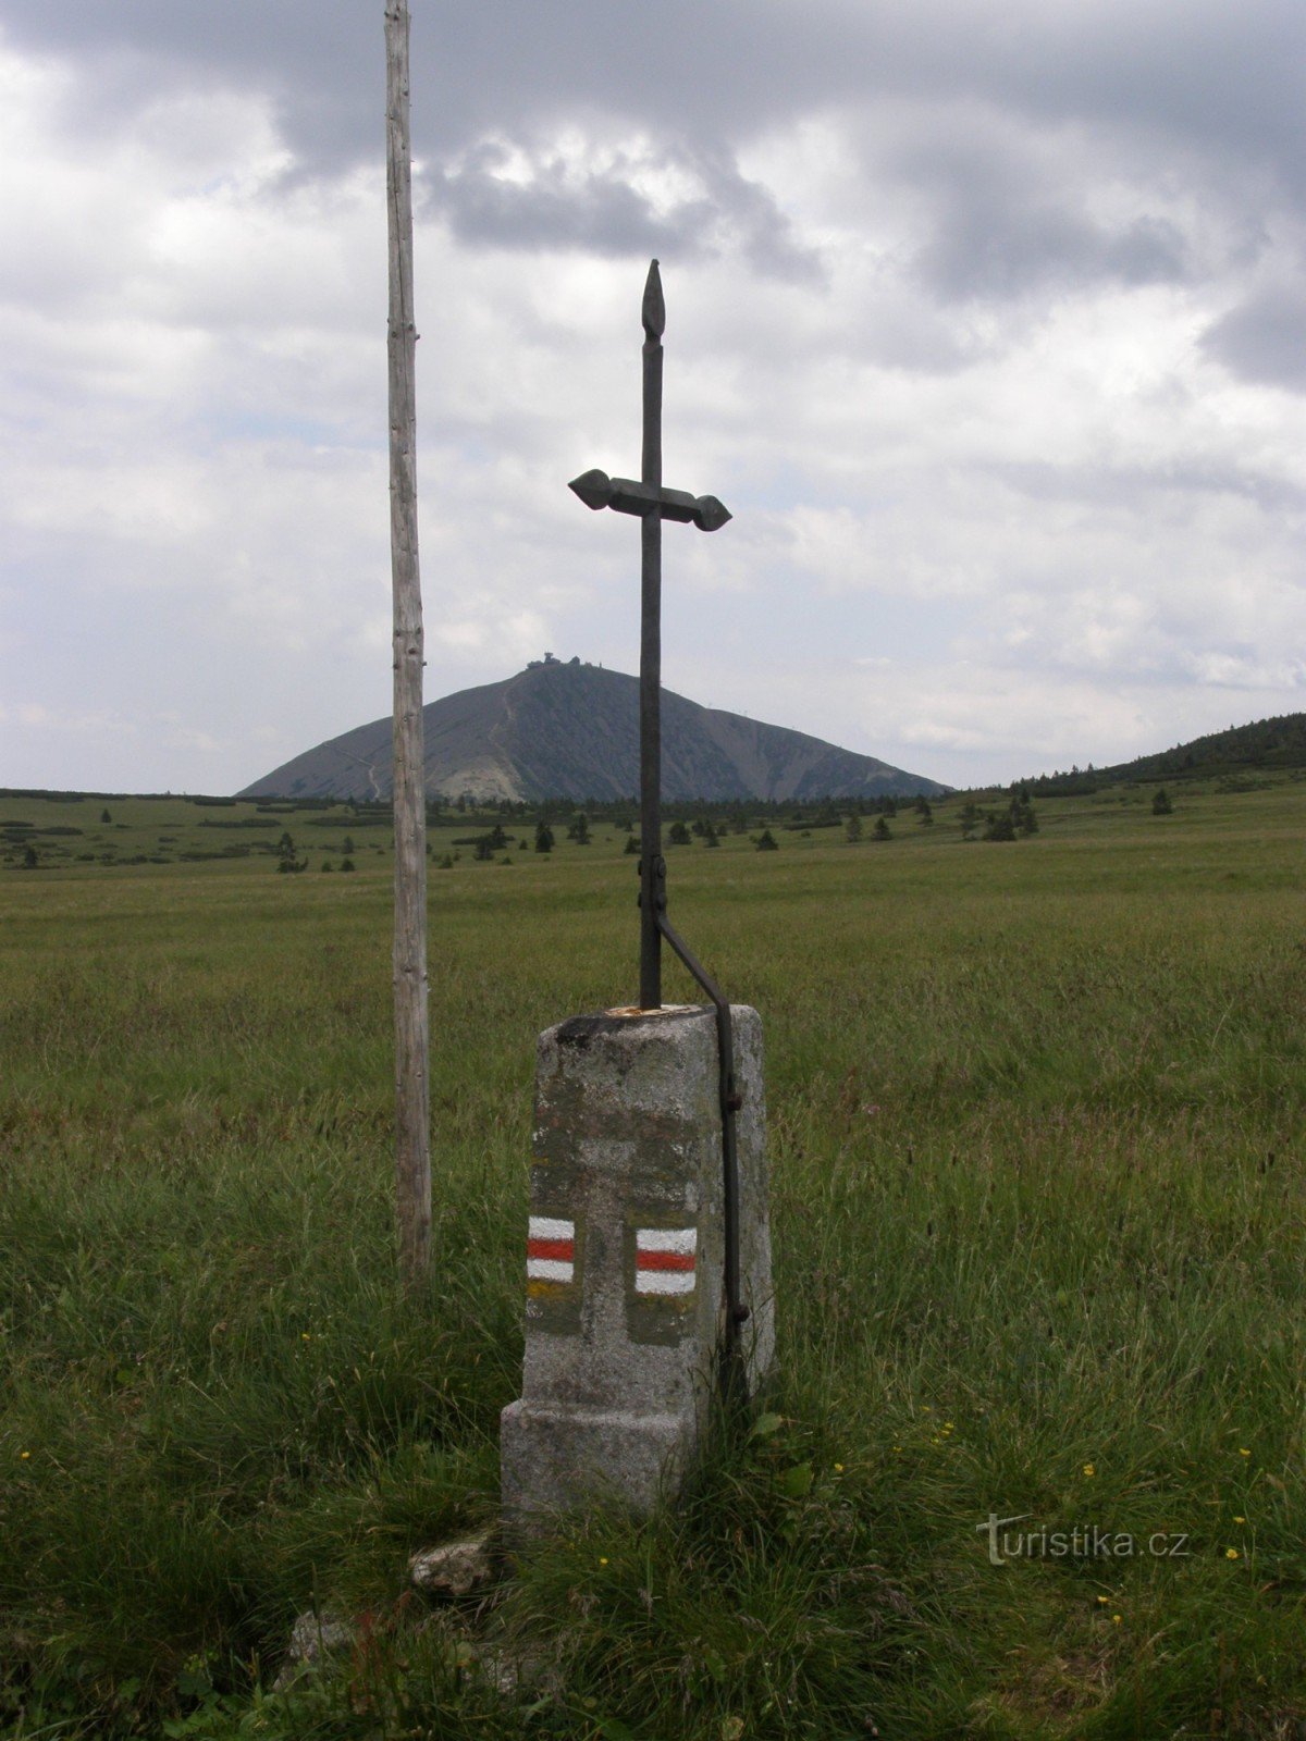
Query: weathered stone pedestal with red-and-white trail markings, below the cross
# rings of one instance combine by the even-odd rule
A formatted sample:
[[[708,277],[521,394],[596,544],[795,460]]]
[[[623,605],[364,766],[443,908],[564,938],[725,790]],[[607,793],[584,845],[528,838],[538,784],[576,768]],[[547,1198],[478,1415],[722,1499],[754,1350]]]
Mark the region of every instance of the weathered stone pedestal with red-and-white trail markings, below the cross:
[[[763,1039],[735,1006],[740,1332],[751,1391],[775,1349]],[[573,1017],[540,1036],[522,1396],[502,1417],[508,1527],[679,1487],[719,1386],[721,1100],[710,1008]]]

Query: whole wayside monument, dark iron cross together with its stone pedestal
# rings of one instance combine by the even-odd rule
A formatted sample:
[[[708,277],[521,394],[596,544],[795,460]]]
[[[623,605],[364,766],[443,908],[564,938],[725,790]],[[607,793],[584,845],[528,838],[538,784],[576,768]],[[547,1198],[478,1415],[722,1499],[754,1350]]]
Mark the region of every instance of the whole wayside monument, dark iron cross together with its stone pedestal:
[[[667,918],[662,857],[662,521],[717,531],[716,496],[662,482],[656,259],[643,301],[639,481],[583,472],[590,508],[641,522],[639,1003],[540,1036],[526,1240],[522,1396],[502,1417],[503,1511],[674,1497],[712,1402],[747,1400],[775,1354],[763,1036]],[[662,1003],[662,942],[709,1006]]]

